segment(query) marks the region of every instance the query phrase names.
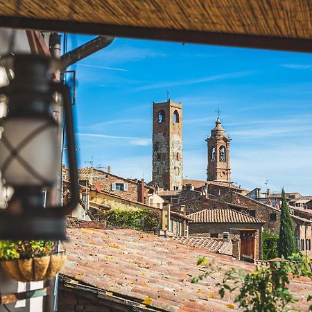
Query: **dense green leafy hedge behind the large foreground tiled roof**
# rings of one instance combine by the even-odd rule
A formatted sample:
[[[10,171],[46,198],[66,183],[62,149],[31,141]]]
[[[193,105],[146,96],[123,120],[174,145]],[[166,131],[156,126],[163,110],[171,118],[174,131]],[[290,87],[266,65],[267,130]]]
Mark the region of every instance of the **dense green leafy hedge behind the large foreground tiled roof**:
[[[159,215],[150,209],[103,211],[100,218],[117,227],[133,227],[139,231],[157,231]]]

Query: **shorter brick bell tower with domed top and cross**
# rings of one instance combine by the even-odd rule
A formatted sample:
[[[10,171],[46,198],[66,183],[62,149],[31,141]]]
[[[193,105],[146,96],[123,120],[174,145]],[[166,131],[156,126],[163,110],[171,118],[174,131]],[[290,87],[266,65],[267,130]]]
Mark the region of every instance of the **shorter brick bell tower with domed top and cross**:
[[[229,142],[225,130],[222,128],[220,116],[216,120],[216,127],[206,139],[208,150],[207,181],[231,182],[231,168],[229,166]]]

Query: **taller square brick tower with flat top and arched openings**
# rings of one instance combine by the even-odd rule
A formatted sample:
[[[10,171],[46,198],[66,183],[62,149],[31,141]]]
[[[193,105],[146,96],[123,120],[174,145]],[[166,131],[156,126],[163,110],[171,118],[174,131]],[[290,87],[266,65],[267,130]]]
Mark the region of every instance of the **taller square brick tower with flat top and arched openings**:
[[[182,103],[153,102],[153,184],[182,189]]]

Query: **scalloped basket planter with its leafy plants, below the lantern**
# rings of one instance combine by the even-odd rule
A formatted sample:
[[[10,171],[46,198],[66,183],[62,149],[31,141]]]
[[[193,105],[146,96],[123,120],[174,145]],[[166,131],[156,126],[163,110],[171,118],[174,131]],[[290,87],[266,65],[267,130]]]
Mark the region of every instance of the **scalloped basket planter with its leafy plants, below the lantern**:
[[[0,264],[12,279],[42,281],[51,279],[66,262],[53,241],[0,241]]]

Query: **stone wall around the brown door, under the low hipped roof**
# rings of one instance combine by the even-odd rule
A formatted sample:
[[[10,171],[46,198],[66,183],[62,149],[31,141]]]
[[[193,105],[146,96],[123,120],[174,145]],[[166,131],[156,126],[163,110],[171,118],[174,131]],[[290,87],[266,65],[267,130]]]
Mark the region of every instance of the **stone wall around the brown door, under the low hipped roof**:
[[[189,235],[210,237],[210,234],[229,232],[230,238],[237,237],[239,229],[255,229],[255,259],[262,259],[262,228],[258,223],[189,223]]]

